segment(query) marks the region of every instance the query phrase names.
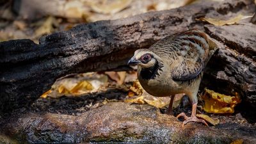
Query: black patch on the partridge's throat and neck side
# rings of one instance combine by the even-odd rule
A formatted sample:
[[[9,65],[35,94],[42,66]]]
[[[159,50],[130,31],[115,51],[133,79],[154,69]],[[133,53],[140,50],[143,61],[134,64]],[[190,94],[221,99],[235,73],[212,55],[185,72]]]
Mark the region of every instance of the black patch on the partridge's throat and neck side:
[[[163,71],[162,68],[163,68],[163,64],[158,63],[158,61],[156,61],[154,67],[141,68],[140,76],[142,79],[145,79],[145,80],[155,79],[156,76],[159,76],[158,70]]]

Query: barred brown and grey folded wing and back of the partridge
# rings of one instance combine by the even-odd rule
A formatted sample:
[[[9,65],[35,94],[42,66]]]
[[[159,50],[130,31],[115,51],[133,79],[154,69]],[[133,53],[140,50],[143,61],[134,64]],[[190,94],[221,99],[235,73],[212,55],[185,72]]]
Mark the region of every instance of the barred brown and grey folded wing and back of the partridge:
[[[209,39],[204,32],[191,29],[157,43],[150,49],[170,64],[173,80],[188,81],[204,69],[209,53]]]

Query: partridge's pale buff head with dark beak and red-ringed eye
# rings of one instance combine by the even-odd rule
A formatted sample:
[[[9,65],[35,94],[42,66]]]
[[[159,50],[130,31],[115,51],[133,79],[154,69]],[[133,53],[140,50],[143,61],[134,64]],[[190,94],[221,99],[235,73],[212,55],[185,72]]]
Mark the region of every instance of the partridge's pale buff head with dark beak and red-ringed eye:
[[[154,67],[157,63],[156,54],[148,49],[138,49],[128,61],[128,65],[140,65],[142,68]]]

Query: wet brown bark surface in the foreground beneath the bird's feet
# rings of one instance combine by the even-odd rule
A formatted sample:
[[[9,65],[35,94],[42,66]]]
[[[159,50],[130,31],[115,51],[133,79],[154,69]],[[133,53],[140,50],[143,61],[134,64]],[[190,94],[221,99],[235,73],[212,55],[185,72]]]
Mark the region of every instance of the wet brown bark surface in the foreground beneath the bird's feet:
[[[17,143],[256,143],[255,127],[214,128],[193,123],[182,128],[177,118],[163,115],[153,106],[125,102],[111,102],[80,116],[29,113],[13,116],[8,123],[1,127],[2,137],[6,134]]]

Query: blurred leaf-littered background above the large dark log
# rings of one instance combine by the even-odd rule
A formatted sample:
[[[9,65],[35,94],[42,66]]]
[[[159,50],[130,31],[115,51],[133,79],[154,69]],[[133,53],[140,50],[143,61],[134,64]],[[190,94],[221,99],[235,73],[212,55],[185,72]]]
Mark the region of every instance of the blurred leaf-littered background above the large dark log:
[[[76,24],[119,19],[191,3],[198,1],[0,0],[0,42],[29,38],[38,43],[40,36],[54,31],[65,31]]]

